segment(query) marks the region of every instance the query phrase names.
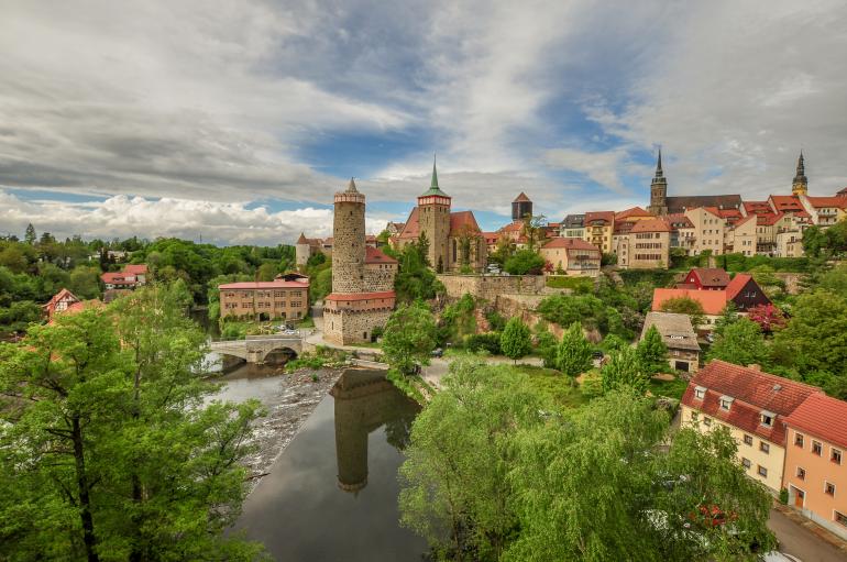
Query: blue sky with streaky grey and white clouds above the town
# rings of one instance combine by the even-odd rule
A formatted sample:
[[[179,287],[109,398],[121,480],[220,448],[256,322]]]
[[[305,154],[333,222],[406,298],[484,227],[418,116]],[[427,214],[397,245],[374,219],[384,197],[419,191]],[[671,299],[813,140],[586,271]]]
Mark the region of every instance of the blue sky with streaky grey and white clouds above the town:
[[[0,0],[0,235],[331,234],[439,183],[484,230],[847,186],[847,3]]]

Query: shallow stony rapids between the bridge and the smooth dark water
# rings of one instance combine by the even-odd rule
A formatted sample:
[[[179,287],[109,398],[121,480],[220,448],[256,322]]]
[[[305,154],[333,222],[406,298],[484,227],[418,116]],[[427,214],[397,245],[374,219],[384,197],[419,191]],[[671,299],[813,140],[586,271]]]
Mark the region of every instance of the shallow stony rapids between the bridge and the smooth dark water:
[[[306,419],[341,376],[341,368],[301,368],[286,374],[283,367],[245,367],[219,382],[227,384],[217,398],[242,401],[256,398],[266,416],[254,422],[251,440],[256,451],[244,459],[250,471],[251,491],[285,451]]]

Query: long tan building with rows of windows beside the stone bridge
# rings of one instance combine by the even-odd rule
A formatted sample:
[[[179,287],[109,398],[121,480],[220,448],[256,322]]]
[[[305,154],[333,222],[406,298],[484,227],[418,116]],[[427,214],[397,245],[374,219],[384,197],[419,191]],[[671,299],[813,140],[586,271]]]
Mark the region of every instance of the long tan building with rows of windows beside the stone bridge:
[[[239,282],[218,286],[221,318],[298,320],[309,311],[309,280]]]

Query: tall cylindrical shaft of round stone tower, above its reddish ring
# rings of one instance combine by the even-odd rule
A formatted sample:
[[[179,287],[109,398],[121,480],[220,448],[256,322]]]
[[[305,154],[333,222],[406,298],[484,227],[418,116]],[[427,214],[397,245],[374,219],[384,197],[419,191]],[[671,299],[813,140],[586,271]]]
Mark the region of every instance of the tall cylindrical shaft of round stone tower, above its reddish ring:
[[[332,220],[332,293],[362,293],[365,261],[365,196],[353,178],[336,194]]]

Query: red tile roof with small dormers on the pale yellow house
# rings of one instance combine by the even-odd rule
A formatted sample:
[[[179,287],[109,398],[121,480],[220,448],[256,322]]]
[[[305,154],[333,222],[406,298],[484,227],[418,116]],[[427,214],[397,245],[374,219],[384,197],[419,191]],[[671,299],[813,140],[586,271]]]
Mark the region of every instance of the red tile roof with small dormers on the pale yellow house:
[[[702,400],[694,395],[697,386],[706,388]],[[782,421],[817,393],[821,389],[814,386],[715,360],[694,375],[682,395],[682,404],[784,447]],[[722,396],[734,398],[729,410],[721,408]],[[778,416],[770,427],[761,423],[762,410]]]

